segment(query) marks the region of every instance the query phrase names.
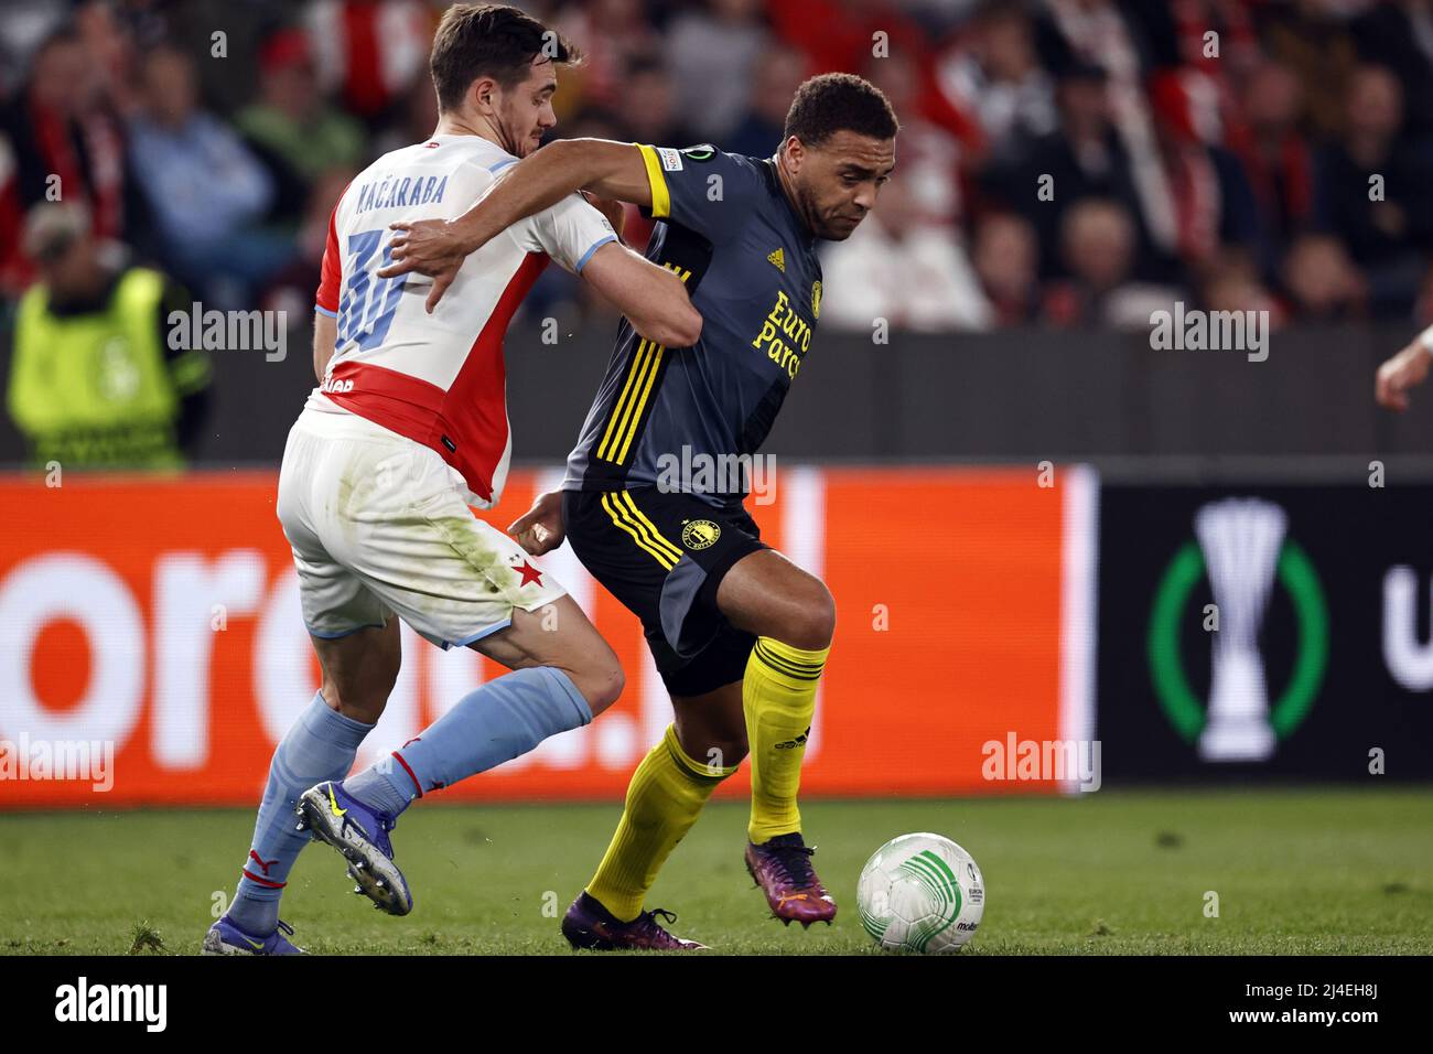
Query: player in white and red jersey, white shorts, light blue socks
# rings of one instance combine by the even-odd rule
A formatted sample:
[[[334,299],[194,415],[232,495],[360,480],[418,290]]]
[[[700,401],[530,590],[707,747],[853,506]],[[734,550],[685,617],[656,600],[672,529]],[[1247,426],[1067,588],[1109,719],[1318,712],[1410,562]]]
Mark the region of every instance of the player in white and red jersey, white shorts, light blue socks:
[[[294,549],[322,687],[274,751],[238,893],[205,935],[214,954],[301,949],[278,919],[310,837],[338,849],[357,892],[406,915],[413,895],[388,832],[411,800],[588,724],[622,691],[616,655],[514,541],[473,516],[494,505],[512,453],[503,333],[556,260],[653,343],[701,333],[681,280],[622,245],[579,195],[509,228],[431,285],[381,280],[388,224],[457,217],[556,123],[556,67],[576,49],[514,7],[454,4],[433,42],[438,128],[344,191],[314,318],[321,380],[289,432],[278,518]],[[350,779],[398,675],[403,619],[441,648],[513,673],[459,700],[391,757]]]

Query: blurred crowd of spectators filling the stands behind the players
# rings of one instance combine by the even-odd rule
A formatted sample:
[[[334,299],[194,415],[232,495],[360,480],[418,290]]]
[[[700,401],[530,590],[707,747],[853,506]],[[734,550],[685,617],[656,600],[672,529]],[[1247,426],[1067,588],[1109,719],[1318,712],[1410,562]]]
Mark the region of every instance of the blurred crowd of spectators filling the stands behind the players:
[[[59,195],[206,305],[305,317],[342,188],[433,130],[444,6],[9,0],[0,298]],[[1175,300],[1433,323],[1433,0],[520,6],[586,53],[557,136],[770,156],[804,77],[887,93],[897,169],[823,251],[823,326],[1144,327]],[[537,310],[580,300],[555,270]]]

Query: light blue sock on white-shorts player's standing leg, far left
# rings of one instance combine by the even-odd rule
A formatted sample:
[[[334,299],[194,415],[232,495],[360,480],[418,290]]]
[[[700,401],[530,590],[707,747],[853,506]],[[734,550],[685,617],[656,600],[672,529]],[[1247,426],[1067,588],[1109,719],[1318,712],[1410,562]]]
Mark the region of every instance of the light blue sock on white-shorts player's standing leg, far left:
[[[228,911],[229,921],[239,929],[264,936],[278,925],[278,901],[289,868],[310,840],[308,832],[297,830],[298,796],[315,783],[347,776],[358,744],[371,728],[371,724],[344,717],[317,694],[284,734],[269,763],[244,878]]]

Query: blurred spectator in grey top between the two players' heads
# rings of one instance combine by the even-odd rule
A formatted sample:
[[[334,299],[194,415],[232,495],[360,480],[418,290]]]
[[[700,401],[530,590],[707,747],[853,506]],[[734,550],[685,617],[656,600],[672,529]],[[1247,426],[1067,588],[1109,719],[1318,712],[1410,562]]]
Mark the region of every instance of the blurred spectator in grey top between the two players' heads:
[[[681,72],[678,115],[698,138],[721,141],[747,112],[768,42],[762,10],[762,0],[706,0],[668,26],[666,65]]]

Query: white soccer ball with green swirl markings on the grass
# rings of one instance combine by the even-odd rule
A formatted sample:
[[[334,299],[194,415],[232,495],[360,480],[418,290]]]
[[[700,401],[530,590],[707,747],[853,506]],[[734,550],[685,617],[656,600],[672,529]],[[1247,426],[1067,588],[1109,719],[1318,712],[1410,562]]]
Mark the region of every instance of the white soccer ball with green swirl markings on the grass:
[[[976,935],[984,879],[974,858],[940,835],[901,835],[861,869],[856,908],[881,948],[953,952]]]

